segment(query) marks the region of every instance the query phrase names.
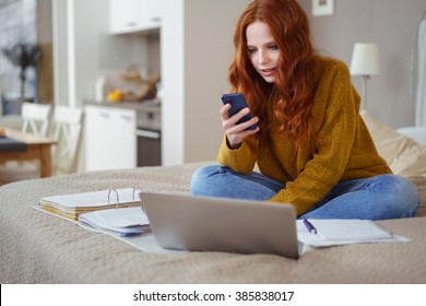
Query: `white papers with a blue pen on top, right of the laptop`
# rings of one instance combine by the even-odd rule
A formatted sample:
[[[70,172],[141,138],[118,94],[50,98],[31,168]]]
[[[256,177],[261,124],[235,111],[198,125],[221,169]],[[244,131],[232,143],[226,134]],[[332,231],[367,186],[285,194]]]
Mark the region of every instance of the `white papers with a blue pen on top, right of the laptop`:
[[[317,231],[316,234],[305,226],[303,220],[297,220],[297,238],[312,247],[363,243],[395,243],[410,239],[393,235],[370,220],[317,220],[309,219]]]

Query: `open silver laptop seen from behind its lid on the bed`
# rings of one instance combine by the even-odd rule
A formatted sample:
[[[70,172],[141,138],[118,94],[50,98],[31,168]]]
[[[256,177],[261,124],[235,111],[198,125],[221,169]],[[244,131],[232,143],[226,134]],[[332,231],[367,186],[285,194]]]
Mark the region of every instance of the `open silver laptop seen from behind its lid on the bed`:
[[[299,257],[291,204],[156,192],[140,197],[164,248]]]

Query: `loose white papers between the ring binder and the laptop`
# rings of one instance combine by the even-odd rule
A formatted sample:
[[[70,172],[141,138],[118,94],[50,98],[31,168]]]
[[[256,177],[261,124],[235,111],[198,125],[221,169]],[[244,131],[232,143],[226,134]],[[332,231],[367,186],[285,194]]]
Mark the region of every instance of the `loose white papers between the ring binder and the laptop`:
[[[121,236],[150,232],[150,221],[140,207],[82,213],[79,220],[100,232]]]

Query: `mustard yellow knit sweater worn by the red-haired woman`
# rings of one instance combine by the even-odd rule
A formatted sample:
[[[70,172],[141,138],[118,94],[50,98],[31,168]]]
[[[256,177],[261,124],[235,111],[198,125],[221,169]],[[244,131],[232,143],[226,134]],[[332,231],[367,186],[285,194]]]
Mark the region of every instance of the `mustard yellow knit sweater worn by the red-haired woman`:
[[[292,203],[298,215],[340,180],[391,173],[359,116],[360,98],[347,67],[317,57],[312,89],[313,149],[301,142],[296,151],[294,140],[285,131],[280,132],[280,125],[270,116],[270,143],[260,149],[257,137],[251,136],[240,148],[232,150],[225,136],[217,156],[221,164],[241,174],[250,174],[257,163],[262,174],[284,183],[285,188],[270,201]]]

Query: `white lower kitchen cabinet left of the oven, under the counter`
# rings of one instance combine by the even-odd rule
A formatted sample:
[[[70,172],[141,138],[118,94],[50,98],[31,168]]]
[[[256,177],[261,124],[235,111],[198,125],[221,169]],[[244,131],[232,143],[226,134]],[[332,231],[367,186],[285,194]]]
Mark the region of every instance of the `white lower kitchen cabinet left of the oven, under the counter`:
[[[135,110],[88,105],[85,116],[86,170],[135,167]]]

